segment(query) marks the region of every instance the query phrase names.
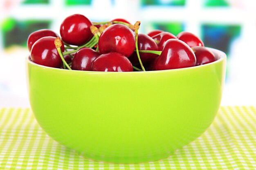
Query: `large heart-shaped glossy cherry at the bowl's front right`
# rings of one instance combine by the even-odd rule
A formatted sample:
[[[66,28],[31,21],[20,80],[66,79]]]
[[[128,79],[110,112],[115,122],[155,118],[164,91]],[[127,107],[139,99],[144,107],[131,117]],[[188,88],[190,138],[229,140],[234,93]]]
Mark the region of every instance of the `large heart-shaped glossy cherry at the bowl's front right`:
[[[178,39],[167,40],[164,49],[155,60],[154,70],[168,70],[195,66],[196,58],[192,49]]]

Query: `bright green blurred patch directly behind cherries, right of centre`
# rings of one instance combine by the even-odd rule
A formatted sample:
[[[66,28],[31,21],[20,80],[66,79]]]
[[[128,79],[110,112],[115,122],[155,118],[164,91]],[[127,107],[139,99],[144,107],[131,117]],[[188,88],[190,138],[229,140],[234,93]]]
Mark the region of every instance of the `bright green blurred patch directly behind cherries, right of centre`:
[[[184,31],[184,24],[182,22],[150,22],[148,25],[150,28],[167,31],[174,35]]]

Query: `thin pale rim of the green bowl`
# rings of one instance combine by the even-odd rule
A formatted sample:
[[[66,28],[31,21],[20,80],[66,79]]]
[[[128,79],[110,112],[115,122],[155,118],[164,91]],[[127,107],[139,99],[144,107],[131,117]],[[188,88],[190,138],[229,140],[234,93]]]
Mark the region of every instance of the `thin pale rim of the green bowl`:
[[[223,52],[220,51],[218,49],[213,49],[210,47],[206,47],[207,49],[209,49],[210,51],[212,51],[215,55],[218,54],[218,59],[214,62],[208,63],[208,64],[203,64],[203,65],[199,65],[199,66],[193,66],[193,67],[186,67],[186,68],[175,68],[175,69],[169,69],[169,70],[157,70],[157,71],[127,71],[127,72],[114,72],[114,71],[110,71],[110,72],[104,72],[104,71],[81,71],[81,70],[65,70],[65,69],[61,69],[61,68],[54,68],[54,67],[49,67],[49,66],[43,66],[40,64],[36,64],[35,62],[32,62],[30,60],[30,55],[28,57],[26,57],[26,62],[38,67],[42,67],[45,69],[50,69],[50,70],[57,70],[57,71],[72,71],[72,72],[81,72],[81,73],[92,73],[92,74],[127,74],[127,73],[133,73],[133,74],[145,74],[145,73],[160,73],[160,72],[173,72],[173,71],[183,71],[183,70],[190,70],[190,69],[199,69],[199,68],[203,68],[203,67],[207,67],[209,65],[213,65],[213,64],[217,64],[219,62],[222,62],[223,60],[225,60],[227,58],[227,55]]]

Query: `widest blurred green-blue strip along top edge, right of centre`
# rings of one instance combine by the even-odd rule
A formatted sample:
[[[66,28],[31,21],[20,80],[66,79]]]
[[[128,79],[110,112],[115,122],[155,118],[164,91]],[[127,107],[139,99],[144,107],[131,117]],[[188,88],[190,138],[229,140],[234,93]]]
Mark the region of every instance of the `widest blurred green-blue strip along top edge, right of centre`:
[[[170,5],[170,6],[184,6],[186,0],[141,0],[142,6],[147,5]]]

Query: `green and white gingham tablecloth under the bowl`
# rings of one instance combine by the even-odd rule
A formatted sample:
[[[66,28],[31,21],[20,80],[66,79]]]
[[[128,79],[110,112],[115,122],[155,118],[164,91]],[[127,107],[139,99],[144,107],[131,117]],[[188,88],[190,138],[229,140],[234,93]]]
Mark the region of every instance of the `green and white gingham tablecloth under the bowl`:
[[[256,107],[221,107],[201,137],[161,161],[90,161],[51,139],[30,109],[0,109],[0,170],[256,170]]]

